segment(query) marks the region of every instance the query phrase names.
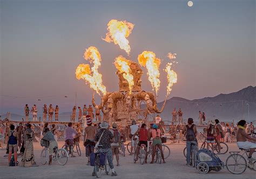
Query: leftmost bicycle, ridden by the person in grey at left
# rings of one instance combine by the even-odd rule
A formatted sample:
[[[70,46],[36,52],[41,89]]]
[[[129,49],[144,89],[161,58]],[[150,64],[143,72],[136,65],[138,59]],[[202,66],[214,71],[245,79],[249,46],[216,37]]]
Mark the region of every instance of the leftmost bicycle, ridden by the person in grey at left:
[[[66,162],[68,162],[68,157],[69,154],[68,152],[66,152],[65,149],[60,148],[58,149],[58,147],[53,148],[53,155],[52,155],[52,160],[56,161],[64,166],[66,164]],[[41,152],[41,162],[42,164],[46,164],[49,162],[49,149],[48,147],[44,147],[44,149]]]

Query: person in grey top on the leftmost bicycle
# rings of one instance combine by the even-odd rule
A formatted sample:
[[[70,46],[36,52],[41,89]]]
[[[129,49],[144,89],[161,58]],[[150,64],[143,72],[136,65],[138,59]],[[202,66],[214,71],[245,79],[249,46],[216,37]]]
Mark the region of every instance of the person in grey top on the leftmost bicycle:
[[[45,131],[45,134],[42,140],[49,141],[49,146],[46,146],[46,147],[49,148],[49,166],[50,166],[52,162],[52,154],[54,152],[54,148],[58,148],[58,144],[54,139],[54,135],[49,130],[49,128],[45,128],[44,131]]]

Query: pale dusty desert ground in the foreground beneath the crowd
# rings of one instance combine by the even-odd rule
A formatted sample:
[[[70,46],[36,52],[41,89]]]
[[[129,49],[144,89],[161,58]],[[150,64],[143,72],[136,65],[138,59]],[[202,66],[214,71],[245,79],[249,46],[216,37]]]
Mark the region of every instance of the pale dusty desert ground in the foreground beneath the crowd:
[[[59,147],[63,146],[63,144],[63,141],[58,142]],[[171,155],[165,164],[147,163],[141,165],[138,162],[134,164],[133,157],[126,154],[125,157],[120,156],[119,167],[116,167],[114,159],[115,170],[118,176],[111,177],[111,175],[103,174],[101,178],[256,178],[256,171],[248,168],[242,175],[231,174],[226,168],[219,172],[210,171],[206,175],[201,175],[196,168],[186,167],[185,157],[183,156],[185,143],[170,144],[170,141],[167,141],[167,145],[171,149]],[[80,146],[82,146],[82,142],[80,142]],[[228,146],[230,148],[229,151],[238,151],[236,144],[228,144]],[[5,149],[0,149],[0,178],[96,178],[91,176],[92,167],[86,166],[85,149],[84,147],[81,148],[82,156],[69,157],[68,163],[65,166],[59,166],[57,161],[53,162],[52,166],[44,166],[40,163],[42,147],[38,142],[35,142],[34,151],[39,167],[30,168],[9,167],[7,158],[3,157]],[[219,156],[225,162],[228,155],[229,153]],[[18,160],[21,161],[21,158],[18,158]]]

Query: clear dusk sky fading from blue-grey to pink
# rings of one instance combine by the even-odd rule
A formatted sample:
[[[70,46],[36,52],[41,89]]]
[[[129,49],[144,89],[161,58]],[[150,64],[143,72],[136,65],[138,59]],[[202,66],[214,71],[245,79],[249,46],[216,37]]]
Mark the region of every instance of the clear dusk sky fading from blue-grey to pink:
[[[92,90],[75,76],[86,48],[102,55],[107,91],[118,90],[113,65],[125,51],[102,40],[111,19],[135,24],[130,60],[143,51],[162,60],[158,101],[166,94],[167,53],[177,53],[173,96],[215,96],[255,86],[255,1],[1,1],[1,110],[52,103],[60,112],[91,103]],[[143,90],[151,91],[143,68]],[[64,96],[68,96],[65,98]],[[9,96],[9,97],[8,97]],[[11,96],[11,97],[10,97]],[[16,97],[13,97],[16,96]],[[41,101],[38,101],[41,99]],[[97,100],[98,100],[97,96]]]

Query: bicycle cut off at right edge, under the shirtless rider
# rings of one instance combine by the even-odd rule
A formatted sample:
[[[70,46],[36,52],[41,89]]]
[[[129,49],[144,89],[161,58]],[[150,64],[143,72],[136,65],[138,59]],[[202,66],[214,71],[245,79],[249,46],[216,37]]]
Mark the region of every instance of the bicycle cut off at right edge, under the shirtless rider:
[[[256,171],[256,161],[247,161],[244,154],[248,157],[249,150],[239,148],[244,153],[241,155],[239,152],[230,152],[230,156],[227,157],[226,167],[227,170],[232,174],[242,174],[245,172],[246,168]]]

